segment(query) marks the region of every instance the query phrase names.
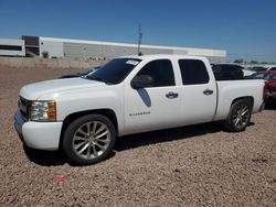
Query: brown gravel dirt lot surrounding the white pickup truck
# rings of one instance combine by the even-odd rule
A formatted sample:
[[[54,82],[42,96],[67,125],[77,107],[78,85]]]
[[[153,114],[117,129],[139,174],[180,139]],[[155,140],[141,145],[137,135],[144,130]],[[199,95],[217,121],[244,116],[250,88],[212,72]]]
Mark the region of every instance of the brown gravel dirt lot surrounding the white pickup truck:
[[[0,67],[0,206],[276,206],[275,106],[242,133],[208,123],[120,138],[92,166],[24,149],[20,87],[75,72]]]

